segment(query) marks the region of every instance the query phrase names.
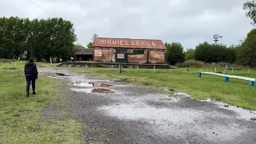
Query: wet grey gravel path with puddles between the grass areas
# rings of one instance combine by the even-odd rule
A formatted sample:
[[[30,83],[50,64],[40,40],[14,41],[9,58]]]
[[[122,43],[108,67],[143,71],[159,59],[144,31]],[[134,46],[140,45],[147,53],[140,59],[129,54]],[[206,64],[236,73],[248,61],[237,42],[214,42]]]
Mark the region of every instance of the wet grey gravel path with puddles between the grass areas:
[[[65,109],[88,126],[84,143],[256,143],[256,114],[220,102],[202,102],[186,94],[170,97],[152,88],[101,78],[60,73],[70,97]],[[64,74],[64,76],[63,76]],[[69,76],[66,76],[69,75]],[[233,109],[233,110],[229,110]],[[58,113],[58,108],[51,106]],[[236,110],[236,111],[234,111]]]

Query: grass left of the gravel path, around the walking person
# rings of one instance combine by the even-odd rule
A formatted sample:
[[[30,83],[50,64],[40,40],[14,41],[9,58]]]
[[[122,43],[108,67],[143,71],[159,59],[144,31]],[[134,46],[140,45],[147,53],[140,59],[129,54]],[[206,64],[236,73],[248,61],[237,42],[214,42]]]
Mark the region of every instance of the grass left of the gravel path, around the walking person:
[[[42,116],[42,110],[59,101],[62,92],[52,88],[61,83],[39,75],[37,95],[26,97],[26,81],[23,74],[25,62],[0,62],[0,143],[81,143],[82,124],[66,118],[50,120]],[[37,62],[37,66],[50,66]],[[31,94],[31,93],[30,93]],[[42,100],[42,102],[38,102]]]

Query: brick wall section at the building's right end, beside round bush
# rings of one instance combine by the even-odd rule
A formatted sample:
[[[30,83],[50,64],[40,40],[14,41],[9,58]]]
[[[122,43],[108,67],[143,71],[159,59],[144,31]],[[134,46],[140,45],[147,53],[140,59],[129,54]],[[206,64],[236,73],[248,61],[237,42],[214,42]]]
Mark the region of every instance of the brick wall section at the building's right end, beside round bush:
[[[150,50],[148,56],[148,63],[163,64],[165,63],[165,51],[164,50]]]

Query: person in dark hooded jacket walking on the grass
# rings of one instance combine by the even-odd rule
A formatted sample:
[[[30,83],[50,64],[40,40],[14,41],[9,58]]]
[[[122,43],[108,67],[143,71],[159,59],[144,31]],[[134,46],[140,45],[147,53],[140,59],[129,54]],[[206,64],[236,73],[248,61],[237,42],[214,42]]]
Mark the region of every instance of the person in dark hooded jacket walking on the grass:
[[[38,79],[38,69],[33,58],[30,58],[29,62],[26,62],[24,73],[26,75],[26,96],[30,96],[30,82],[32,82],[33,94],[37,94],[35,92],[35,81]]]

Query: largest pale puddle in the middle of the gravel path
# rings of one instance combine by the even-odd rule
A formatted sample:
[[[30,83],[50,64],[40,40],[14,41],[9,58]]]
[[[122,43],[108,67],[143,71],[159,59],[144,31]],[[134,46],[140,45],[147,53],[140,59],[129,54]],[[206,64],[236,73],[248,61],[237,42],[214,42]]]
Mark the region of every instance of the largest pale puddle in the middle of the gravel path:
[[[147,119],[158,123],[165,121],[186,124],[194,122],[194,119],[200,118],[202,111],[193,110],[174,110],[165,108],[156,108],[150,106],[133,106],[133,105],[118,105],[118,106],[103,106],[100,109],[106,110],[107,114],[118,118],[130,120]]]

